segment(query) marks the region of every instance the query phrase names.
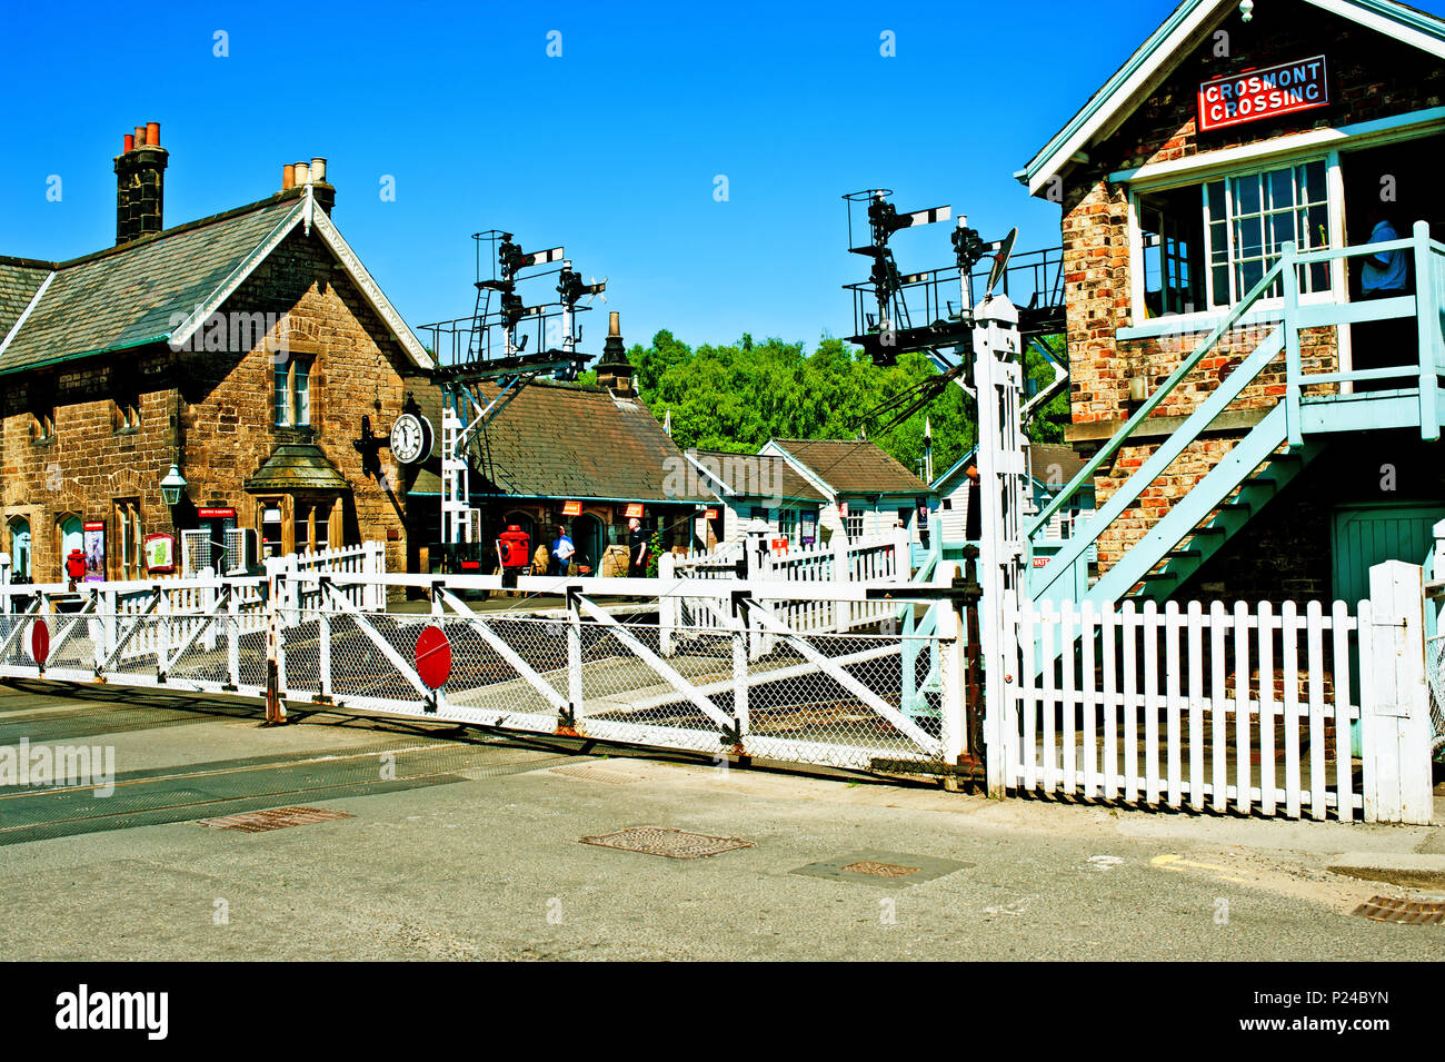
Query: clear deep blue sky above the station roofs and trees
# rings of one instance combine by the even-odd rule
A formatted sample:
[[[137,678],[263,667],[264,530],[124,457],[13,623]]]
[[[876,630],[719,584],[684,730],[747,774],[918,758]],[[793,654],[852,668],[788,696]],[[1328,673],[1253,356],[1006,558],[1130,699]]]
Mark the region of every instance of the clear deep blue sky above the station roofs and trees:
[[[750,331],[811,348],[848,334],[840,285],[867,267],[845,251],[842,192],[889,186],[902,210],[948,202],[985,237],[1017,225],[1022,249],[1056,244],[1058,207],[1012,175],[1172,7],[16,6],[0,35],[0,253],[110,246],[111,157],[159,121],[168,225],[263,198],[285,162],[325,156],[337,224],[412,325],[471,312],[470,236],[499,227],[608,276],[601,309],[621,311],[629,341]],[[900,266],[945,264],[946,228],[899,236]],[[595,353],[605,322],[587,324]]]

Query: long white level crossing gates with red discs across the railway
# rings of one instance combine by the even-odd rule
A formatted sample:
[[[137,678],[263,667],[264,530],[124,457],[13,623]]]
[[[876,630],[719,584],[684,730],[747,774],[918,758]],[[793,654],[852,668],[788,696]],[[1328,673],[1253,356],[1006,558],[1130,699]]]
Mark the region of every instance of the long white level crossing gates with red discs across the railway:
[[[488,577],[273,572],[207,581],[204,595],[201,584],[168,581],[137,591],[127,613],[100,584],[13,588],[0,610],[0,675],[272,694],[714,757],[936,774],[961,751],[948,751],[962,701],[944,666],[958,656],[957,623],[916,623],[906,613],[918,605],[880,604],[870,585],[520,579],[523,594],[553,595],[536,603],[552,605],[545,614],[473,610],[462,597],[497,590]],[[425,591],[429,613],[387,611],[386,591],[394,601],[405,587]],[[698,611],[718,626],[681,626],[689,610],[659,607],[659,590],[705,603]],[[607,605],[594,600],[603,594]],[[782,605],[822,600],[881,618],[845,633],[786,623]]]

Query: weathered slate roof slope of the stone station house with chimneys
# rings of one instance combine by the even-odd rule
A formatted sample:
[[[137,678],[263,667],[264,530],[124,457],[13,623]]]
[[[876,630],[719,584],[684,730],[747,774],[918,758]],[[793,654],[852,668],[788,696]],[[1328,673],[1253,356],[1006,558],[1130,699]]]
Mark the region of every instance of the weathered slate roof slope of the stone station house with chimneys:
[[[120,247],[43,263],[55,270],[55,280],[0,351],[0,376],[168,340],[172,315],[191,315],[277,225],[296,220],[303,208],[299,197],[298,191],[280,192]],[[0,280],[0,289],[6,286]],[[0,316],[6,302],[0,292]]]

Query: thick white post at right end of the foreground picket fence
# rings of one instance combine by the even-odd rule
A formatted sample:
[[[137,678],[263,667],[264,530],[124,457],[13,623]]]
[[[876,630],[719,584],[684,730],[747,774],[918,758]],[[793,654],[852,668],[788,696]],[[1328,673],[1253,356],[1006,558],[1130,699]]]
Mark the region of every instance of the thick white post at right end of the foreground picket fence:
[[[1360,660],[1360,744],[1373,764],[1364,772],[1364,816],[1426,825],[1435,806],[1419,565],[1386,561],[1370,569],[1370,626],[1371,659]]]

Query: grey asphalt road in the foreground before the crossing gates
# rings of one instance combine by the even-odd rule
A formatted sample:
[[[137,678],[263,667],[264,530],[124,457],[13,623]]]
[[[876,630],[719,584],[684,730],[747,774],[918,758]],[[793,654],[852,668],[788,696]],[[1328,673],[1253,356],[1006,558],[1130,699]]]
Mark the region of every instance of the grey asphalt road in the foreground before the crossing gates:
[[[114,748],[116,792],[0,789],[12,959],[1439,959],[1407,890],[1324,870],[1432,828],[990,802],[936,789],[460,740],[234,704],[0,686],[0,746]],[[347,818],[267,832],[199,819]],[[694,860],[630,826],[750,842]],[[912,868],[902,877],[840,865]],[[808,873],[796,873],[809,868]],[[866,867],[868,868],[868,867]]]

